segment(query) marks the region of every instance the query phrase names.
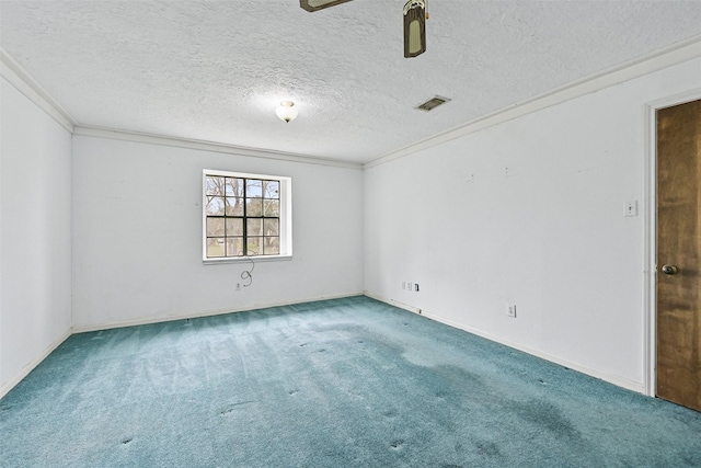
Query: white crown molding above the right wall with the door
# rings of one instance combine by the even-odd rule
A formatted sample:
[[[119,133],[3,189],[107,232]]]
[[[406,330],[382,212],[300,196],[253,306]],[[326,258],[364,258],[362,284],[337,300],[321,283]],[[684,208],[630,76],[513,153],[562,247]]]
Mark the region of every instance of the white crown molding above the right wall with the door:
[[[591,94],[624,81],[640,78],[654,71],[699,57],[701,57],[701,35],[696,35],[689,39],[673,44],[671,46],[655,50],[654,53],[643,55],[633,60],[629,60],[598,73],[590,75],[586,78],[573,81],[446,132],[441,132],[423,140],[407,145],[377,159],[367,161],[363,167],[364,169],[368,169],[383,164],[456,138],[499,125],[504,122],[508,122],[586,94]]]

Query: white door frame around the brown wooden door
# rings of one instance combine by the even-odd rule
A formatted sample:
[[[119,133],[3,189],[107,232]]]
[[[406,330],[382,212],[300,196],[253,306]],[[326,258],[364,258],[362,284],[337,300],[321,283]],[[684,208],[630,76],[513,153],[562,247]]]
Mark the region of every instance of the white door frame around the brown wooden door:
[[[656,396],[657,386],[657,111],[701,99],[701,88],[645,104],[644,254],[643,254],[643,387]]]

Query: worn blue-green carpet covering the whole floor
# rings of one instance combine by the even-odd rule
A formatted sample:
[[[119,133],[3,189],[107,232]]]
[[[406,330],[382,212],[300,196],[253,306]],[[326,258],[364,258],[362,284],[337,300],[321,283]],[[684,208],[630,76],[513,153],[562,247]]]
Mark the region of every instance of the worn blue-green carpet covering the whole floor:
[[[701,413],[366,297],[74,334],[2,467],[701,467]]]

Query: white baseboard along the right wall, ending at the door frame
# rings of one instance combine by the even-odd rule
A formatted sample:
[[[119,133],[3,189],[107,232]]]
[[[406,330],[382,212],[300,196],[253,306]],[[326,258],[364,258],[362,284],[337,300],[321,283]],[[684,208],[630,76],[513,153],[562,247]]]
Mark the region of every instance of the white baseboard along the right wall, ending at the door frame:
[[[625,388],[628,390],[632,390],[632,391],[635,391],[635,392],[639,392],[639,393],[646,395],[645,393],[645,386],[643,385],[643,383],[629,380],[629,379],[621,378],[621,377],[618,377],[618,376],[612,376],[612,375],[608,375],[608,374],[601,373],[601,372],[599,372],[597,369],[593,369],[590,367],[583,366],[581,364],[577,364],[577,363],[574,363],[574,362],[571,362],[571,361],[567,361],[567,359],[563,359],[563,358],[561,358],[559,356],[542,352],[540,350],[532,349],[530,346],[527,346],[527,345],[524,345],[521,343],[505,339],[503,336],[485,332],[483,330],[467,326],[464,323],[456,322],[455,320],[447,319],[447,318],[445,318],[445,317],[443,317],[443,316],[440,316],[438,313],[430,312],[430,311],[428,311],[426,309],[420,309],[420,308],[416,308],[416,307],[413,307],[413,306],[409,306],[409,305],[405,305],[405,304],[402,304],[402,303],[398,303],[397,300],[388,299],[388,298],[384,298],[384,297],[381,297],[381,296],[377,296],[377,295],[374,295],[374,294],[370,294],[370,293],[365,293],[365,295],[368,296],[368,297],[371,297],[374,299],[377,299],[379,301],[389,304],[391,306],[395,306],[395,307],[400,307],[402,309],[409,310],[410,312],[420,313],[420,315],[422,315],[422,316],[424,316],[426,318],[429,318],[429,319],[435,320],[437,322],[447,324],[449,327],[457,328],[457,329],[462,330],[462,331],[467,331],[468,333],[472,333],[472,334],[475,334],[478,336],[482,336],[482,338],[484,338],[486,340],[503,344],[505,346],[513,347],[514,350],[518,350],[518,351],[521,351],[524,353],[530,354],[532,356],[540,357],[541,359],[550,361],[551,363],[559,364],[559,365],[561,365],[563,367],[567,367],[570,369],[576,370],[576,372],[582,373],[582,374],[586,374],[586,375],[588,375],[590,377],[598,378],[598,379],[604,380],[604,381],[608,381],[609,384],[613,384],[613,385],[616,385],[618,387],[622,387],[622,388]]]

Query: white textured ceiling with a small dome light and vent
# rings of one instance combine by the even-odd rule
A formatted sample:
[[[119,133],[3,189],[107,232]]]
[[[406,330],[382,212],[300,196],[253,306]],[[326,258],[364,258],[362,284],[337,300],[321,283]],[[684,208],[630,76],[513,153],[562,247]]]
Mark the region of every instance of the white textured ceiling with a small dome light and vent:
[[[405,59],[403,4],[2,0],[0,45],[83,126],[366,162],[701,34],[696,0],[429,0]]]

